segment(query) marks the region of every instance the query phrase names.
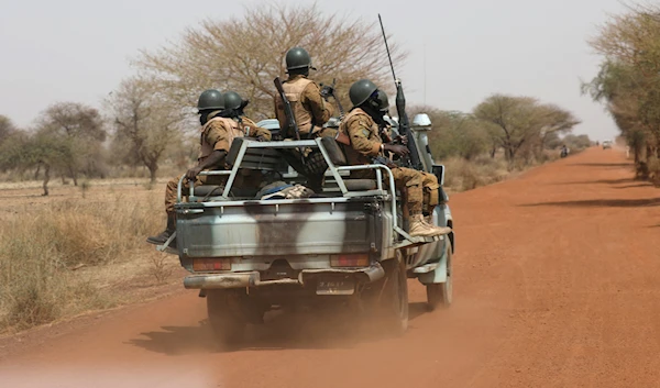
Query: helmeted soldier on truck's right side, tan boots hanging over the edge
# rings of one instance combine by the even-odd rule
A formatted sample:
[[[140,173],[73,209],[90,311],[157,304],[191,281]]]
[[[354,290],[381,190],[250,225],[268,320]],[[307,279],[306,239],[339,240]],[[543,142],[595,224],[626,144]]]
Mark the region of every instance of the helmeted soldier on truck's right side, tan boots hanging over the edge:
[[[354,82],[349,90],[353,109],[342,121],[339,131],[349,136],[350,147],[346,157],[351,165],[371,164],[371,158],[383,156],[386,152],[405,156],[408,148],[400,144],[383,142],[378,134],[378,123],[383,123],[384,104],[378,99],[378,88],[369,79]],[[421,171],[411,168],[388,166],[394,175],[395,185],[405,193],[409,229],[411,236],[435,236],[448,234],[450,228],[428,223],[422,215],[424,179]],[[372,178],[372,171],[352,171],[351,177]],[[437,180],[436,180],[437,182]]]

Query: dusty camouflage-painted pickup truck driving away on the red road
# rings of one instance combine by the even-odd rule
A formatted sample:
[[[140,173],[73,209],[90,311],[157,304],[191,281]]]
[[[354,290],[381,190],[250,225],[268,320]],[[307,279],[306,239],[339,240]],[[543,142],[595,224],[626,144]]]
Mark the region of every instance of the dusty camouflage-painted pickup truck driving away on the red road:
[[[442,185],[444,167],[433,164],[428,147],[430,120],[413,121],[425,169]],[[396,125],[396,122],[393,122]],[[258,123],[277,130],[276,121]],[[301,181],[282,157],[287,148],[319,148],[328,164],[323,192],[310,198],[261,199],[234,188],[241,174],[275,174]],[[393,334],[408,325],[408,282],[426,286],[428,306],[452,301],[455,236],[411,237],[405,231],[400,198],[387,166],[349,166],[332,137],[255,142],[237,138],[227,156],[223,186],[189,190],[179,181],[176,233],[158,250],[176,254],[190,275],[187,289],[207,300],[208,317],[223,345],[241,341],[246,324],[263,323],[272,309],[322,309],[341,306],[358,314],[376,314]],[[375,179],[351,179],[350,171],[371,169]],[[265,179],[265,178],[264,178]],[[432,221],[453,226],[448,196]],[[168,247],[176,239],[176,250]],[[355,314],[352,314],[355,315]]]

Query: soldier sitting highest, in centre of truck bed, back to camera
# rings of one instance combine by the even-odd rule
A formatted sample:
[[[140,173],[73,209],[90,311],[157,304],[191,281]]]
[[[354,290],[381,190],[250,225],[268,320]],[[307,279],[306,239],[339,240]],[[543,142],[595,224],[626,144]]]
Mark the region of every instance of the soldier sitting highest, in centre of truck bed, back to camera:
[[[317,136],[334,136],[337,131],[323,128],[323,124],[332,117],[332,106],[327,103],[328,97],[333,90],[329,86],[319,86],[308,79],[311,66],[311,57],[305,48],[294,47],[286,53],[286,69],[288,79],[282,84],[284,93],[292,106],[294,117],[300,132],[300,138],[314,138]],[[279,121],[279,128],[284,128],[286,114],[279,95],[275,97],[275,115]],[[295,133],[284,133],[284,138],[295,138]],[[297,151],[293,154],[284,154],[287,162],[296,171],[307,177],[307,186],[316,192],[322,191],[323,173],[328,168],[323,156],[318,149],[308,149],[304,155],[305,163],[300,163]]]

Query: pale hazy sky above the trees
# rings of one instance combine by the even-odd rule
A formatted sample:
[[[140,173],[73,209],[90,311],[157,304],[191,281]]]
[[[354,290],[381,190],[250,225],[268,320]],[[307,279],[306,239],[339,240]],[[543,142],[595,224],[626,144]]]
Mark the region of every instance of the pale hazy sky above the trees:
[[[311,3],[290,1],[289,3]],[[0,114],[21,126],[56,101],[101,108],[132,73],[129,59],[206,18],[240,15],[262,1],[50,0],[0,7]],[[494,92],[527,95],[573,111],[575,133],[617,133],[603,108],[580,95],[600,57],[586,44],[618,0],[319,1],[324,12],[376,22],[405,46],[397,71],[408,103],[470,111]],[[258,27],[255,25],[254,27]],[[350,60],[350,59],[348,59]],[[426,92],[425,92],[426,63]]]

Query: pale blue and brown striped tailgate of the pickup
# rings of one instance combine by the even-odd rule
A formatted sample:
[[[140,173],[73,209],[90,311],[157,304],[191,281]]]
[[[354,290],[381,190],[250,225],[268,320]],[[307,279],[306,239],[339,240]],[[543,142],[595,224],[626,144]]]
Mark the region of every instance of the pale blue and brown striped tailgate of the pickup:
[[[245,201],[177,214],[177,245],[187,257],[369,252],[380,234],[367,202]]]

